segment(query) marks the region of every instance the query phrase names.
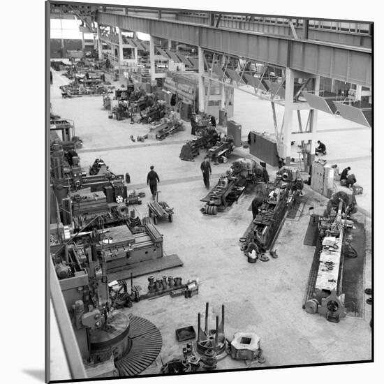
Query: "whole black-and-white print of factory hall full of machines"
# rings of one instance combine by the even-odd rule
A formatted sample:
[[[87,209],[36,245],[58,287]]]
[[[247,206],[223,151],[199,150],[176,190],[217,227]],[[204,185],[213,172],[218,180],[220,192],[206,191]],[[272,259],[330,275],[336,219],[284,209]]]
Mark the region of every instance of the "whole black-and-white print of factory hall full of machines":
[[[50,380],[371,361],[372,23],[47,12]]]

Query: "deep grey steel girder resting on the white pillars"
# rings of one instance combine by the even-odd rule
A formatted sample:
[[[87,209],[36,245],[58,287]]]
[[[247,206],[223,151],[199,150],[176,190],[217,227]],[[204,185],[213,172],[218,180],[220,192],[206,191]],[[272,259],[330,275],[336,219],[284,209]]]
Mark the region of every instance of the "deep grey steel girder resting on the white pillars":
[[[99,12],[96,18],[100,24],[371,87],[368,48],[105,12]]]

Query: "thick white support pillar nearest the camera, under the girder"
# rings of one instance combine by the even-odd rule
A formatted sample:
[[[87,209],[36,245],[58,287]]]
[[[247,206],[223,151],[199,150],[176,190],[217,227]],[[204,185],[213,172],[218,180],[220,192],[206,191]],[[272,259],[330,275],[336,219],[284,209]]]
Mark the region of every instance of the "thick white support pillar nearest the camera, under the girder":
[[[295,72],[286,68],[286,97],[284,106],[284,126],[282,148],[278,148],[279,156],[285,158],[286,165],[290,165],[290,142],[292,141],[292,115],[293,115],[293,91]]]

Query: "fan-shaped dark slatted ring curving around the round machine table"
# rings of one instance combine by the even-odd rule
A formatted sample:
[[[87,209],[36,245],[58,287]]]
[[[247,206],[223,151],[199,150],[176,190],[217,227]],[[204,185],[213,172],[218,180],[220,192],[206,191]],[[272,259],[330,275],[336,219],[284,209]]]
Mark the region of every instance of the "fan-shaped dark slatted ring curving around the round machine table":
[[[158,328],[145,318],[131,317],[128,332],[131,348],[115,362],[120,376],[135,376],[149,367],[161,351],[163,339]]]

